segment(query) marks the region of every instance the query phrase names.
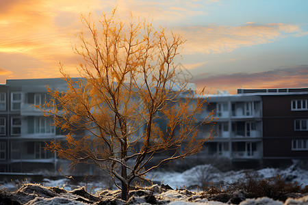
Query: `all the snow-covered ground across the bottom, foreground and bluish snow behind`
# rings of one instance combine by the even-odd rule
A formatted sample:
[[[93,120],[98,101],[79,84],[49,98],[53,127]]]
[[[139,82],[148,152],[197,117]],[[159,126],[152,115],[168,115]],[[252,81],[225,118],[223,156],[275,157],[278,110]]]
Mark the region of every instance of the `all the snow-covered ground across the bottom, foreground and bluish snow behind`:
[[[151,172],[147,174],[147,178],[153,181],[153,187],[144,188],[142,192],[138,193],[135,191],[133,193],[134,197],[131,198],[129,204],[149,204],[149,195],[154,195],[155,200],[159,204],[172,204],[172,205],[193,205],[193,204],[225,204],[222,202],[214,202],[208,200],[204,197],[204,192],[201,192],[203,187],[203,182],[209,183],[213,182],[216,187],[226,187],[226,185],[232,182],[237,182],[246,177],[246,173],[257,178],[271,178],[279,174],[281,179],[285,182],[298,182],[298,184],[303,184],[303,187],[308,184],[308,172],[307,170],[300,169],[296,165],[292,165],[287,169],[274,169],[266,168],[259,170],[240,170],[240,171],[229,171],[220,172],[215,167],[211,165],[198,165],[189,169],[185,172]],[[22,204],[34,205],[34,204],[86,204],[87,200],[94,202],[92,198],[83,199],[84,195],[78,195],[78,191],[74,189],[85,187],[86,191],[93,193],[95,197],[103,198],[104,200],[110,200],[112,203],[125,204],[125,202],[118,199],[120,192],[118,190],[108,190],[107,185],[103,185],[103,182],[89,182],[88,184],[84,182],[79,182],[77,184],[72,184],[67,178],[60,180],[50,180],[44,179],[41,185],[34,184],[27,186],[27,184],[16,184],[12,182],[0,182],[2,187],[10,189],[10,191],[16,191],[17,186],[21,187],[18,191],[14,192],[16,194],[16,199],[22,200]],[[158,185],[157,185],[158,184]],[[168,190],[160,187],[161,184],[168,184],[172,189]],[[29,185],[29,184],[28,184]],[[0,188],[2,188],[0,187]],[[64,188],[66,191],[59,192],[51,190],[49,187],[60,187]],[[181,189],[185,188],[185,189]],[[188,189],[188,190],[186,190]],[[3,193],[3,189],[1,190]],[[0,191],[0,193],[1,193]],[[13,193],[13,192],[12,192]],[[8,193],[8,195],[12,195]],[[25,193],[25,194],[21,194]],[[143,194],[142,194],[143,193]],[[202,193],[202,194],[201,194]],[[239,195],[239,193],[234,193]],[[3,197],[3,196],[2,196]],[[1,195],[0,195],[1,201]],[[1,204],[1,202],[0,202]],[[240,204],[247,205],[261,205],[261,204],[308,204],[308,195],[300,199],[288,199],[287,201],[279,202],[274,201],[268,197],[262,197],[258,199],[246,199]]]

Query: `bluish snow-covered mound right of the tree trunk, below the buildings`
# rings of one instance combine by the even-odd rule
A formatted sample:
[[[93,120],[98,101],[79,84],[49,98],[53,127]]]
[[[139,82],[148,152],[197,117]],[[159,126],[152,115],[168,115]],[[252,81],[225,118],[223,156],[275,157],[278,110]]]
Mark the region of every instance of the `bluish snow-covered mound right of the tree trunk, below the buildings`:
[[[220,170],[211,165],[198,165],[185,172],[151,172],[147,174],[147,178],[154,182],[162,182],[168,184],[173,189],[181,187],[203,187],[203,183],[213,182],[216,186],[222,187],[232,182],[245,178],[246,173],[256,176],[259,179],[281,177],[285,182],[298,182],[298,184],[308,185],[308,171],[300,169],[296,165],[292,165],[287,169],[265,168],[259,170],[240,170],[220,172]]]

